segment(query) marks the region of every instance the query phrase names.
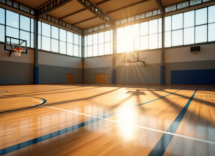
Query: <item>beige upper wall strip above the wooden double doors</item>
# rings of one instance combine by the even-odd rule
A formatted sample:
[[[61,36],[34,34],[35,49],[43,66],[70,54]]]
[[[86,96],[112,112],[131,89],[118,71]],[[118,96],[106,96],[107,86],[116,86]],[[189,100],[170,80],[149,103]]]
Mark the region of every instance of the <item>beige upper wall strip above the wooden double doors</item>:
[[[112,55],[84,59],[84,68],[111,67]]]

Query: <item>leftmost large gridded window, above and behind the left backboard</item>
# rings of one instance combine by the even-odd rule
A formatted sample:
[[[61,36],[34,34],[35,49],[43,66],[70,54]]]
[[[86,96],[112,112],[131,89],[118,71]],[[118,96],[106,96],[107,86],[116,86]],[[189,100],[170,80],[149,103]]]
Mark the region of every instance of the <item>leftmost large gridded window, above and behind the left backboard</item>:
[[[34,48],[34,19],[0,8],[0,42],[5,36],[27,40]]]

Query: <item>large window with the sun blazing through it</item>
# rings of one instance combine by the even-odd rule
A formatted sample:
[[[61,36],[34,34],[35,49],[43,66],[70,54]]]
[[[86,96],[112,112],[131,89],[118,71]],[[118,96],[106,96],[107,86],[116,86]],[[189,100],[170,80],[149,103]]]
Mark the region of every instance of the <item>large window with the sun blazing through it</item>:
[[[161,48],[161,19],[117,29],[117,53]]]

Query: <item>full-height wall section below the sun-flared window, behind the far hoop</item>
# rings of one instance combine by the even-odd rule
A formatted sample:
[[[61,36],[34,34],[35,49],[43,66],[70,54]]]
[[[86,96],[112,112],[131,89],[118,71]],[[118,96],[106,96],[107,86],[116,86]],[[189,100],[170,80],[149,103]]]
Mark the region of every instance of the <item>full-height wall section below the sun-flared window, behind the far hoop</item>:
[[[116,83],[119,84],[160,84],[161,50],[139,52],[143,63],[124,63],[123,54],[116,55]]]

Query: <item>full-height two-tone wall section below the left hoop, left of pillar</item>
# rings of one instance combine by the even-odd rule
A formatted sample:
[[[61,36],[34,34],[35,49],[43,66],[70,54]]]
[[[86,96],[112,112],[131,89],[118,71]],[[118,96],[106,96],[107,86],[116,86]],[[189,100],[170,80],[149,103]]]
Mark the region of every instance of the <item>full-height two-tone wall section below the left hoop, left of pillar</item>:
[[[4,51],[0,43],[0,85],[1,84],[33,84],[34,83],[34,50],[28,49],[28,54],[21,57]]]

